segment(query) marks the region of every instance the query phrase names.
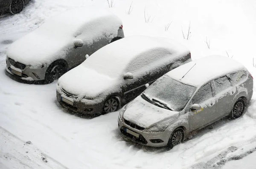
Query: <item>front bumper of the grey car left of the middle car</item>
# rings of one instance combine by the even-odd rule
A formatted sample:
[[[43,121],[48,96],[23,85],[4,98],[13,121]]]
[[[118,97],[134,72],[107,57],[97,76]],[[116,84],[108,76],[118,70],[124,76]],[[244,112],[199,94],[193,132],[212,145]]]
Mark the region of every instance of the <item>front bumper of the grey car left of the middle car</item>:
[[[18,62],[16,62],[18,63]],[[18,63],[20,64],[20,63]],[[21,63],[22,64],[22,63]],[[40,81],[44,80],[45,72],[47,70],[47,66],[43,68],[32,68],[31,66],[23,66],[22,69],[17,68],[15,65],[12,65],[9,61],[9,58],[6,59],[6,72],[11,74],[12,76],[18,77],[22,80],[35,80]]]

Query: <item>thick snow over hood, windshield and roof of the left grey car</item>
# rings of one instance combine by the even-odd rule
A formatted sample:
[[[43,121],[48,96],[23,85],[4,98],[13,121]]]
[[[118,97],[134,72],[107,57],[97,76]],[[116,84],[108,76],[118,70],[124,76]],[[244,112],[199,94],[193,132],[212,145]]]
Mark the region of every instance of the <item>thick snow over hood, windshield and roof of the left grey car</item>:
[[[12,43],[7,55],[26,65],[51,63],[64,58],[73,48],[74,40],[81,39],[87,46],[103,36],[111,40],[121,25],[122,21],[108,9],[76,8],[64,11]]]

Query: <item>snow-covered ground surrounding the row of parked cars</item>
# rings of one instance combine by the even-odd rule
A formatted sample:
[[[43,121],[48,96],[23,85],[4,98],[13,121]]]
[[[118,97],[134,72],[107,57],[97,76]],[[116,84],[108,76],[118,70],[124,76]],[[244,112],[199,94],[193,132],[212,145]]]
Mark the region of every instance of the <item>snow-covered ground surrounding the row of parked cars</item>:
[[[125,36],[175,39],[191,50],[192,59],[209,54],[233,57],[247,67],[256,84],[255,0],[113,0],[113,5]],[[47,18],[80,6],[108,8],[108,3],[32,0],[20,14],[0,18],[0,169],[256,169],[256,86],[243,117],[221,120],[167,151],[124,140],[117,129],[118,112],[90,118],[63,109],[56,101],[56,81],[28,85],[6,76],[10,43]],[[191,37],[185,40],[182,29],[186,37],[189,22]]]

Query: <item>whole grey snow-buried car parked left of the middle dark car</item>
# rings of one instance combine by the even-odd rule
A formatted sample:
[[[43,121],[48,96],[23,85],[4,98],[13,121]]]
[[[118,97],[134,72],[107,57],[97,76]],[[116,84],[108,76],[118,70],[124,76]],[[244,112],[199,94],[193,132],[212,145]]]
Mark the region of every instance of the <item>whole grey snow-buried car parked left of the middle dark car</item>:
[[[86,54],[122,37],[122,21],[107,9],[64,11],[9,46],[6,71],[23,80],[51,83],[81,64]]]

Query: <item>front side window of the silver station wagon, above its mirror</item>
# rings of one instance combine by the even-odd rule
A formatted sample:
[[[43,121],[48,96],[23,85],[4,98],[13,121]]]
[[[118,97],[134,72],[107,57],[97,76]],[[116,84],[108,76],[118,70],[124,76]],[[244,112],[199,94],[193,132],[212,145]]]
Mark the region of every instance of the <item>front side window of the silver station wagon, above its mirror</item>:
[[[195,94],[192,99],[193,104],[203,103],[204,101],[208,100],[212,97],[212,88],[210,83],[205,84],[202,86]]]

